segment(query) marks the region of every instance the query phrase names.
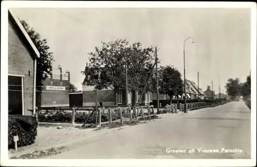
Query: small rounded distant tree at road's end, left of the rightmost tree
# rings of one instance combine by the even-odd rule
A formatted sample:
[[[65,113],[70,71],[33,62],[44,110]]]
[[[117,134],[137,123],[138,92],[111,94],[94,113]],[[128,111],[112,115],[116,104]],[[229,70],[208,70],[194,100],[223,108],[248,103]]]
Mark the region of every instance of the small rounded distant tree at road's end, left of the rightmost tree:
[[[229,96],[231,96],[233,99],[236,98],[236,96],[241,94],[240,79],[229,78],[225,88],[227,89],[227,94]]]

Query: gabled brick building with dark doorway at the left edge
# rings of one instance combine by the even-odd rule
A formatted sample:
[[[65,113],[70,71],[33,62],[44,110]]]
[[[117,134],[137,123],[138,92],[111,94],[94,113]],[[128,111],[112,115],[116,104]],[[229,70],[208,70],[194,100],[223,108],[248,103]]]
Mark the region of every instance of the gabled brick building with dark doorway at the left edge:
[[[19,18],[8,11],[8,113],[35,114],[36,59],[40,53]]]

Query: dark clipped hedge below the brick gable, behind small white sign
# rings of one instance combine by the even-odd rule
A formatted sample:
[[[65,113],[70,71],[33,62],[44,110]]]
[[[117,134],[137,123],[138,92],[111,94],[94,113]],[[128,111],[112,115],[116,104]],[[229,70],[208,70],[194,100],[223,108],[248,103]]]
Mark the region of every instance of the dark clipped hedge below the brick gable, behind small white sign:
[[[33,117],[33,123],[30,125],[24,121],[14,119],[8,116],[8,147],[14,148],[13,136],[19,136],[17,146],[25,146],[34,143],[38,135],[38,122]]]

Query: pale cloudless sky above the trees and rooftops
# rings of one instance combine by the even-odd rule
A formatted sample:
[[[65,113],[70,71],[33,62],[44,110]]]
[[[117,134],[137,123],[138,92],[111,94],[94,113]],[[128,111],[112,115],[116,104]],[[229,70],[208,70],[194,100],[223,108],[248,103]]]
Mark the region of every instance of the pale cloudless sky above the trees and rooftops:
[[[173,65],[183,79],[185,43],[186,79],[215,94],[226,92],[228,78],[241,82],[251,70],[251,11],[243,8],[13,8],[20,20],[46,39],[55,62],[70,71],[78,88],[81,73],[101,41],[127,39],[143,47],[157,46],[162,66]]]

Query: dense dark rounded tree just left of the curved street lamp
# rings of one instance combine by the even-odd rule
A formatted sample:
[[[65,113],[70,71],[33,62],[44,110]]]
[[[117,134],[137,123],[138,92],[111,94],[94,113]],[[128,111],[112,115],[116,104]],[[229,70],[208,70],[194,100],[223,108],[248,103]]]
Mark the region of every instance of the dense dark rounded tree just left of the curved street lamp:
[[[170,103],[172,96],[181,95],[183,92],[183,81],[181,73],[173,66],[160,67],[160,92],[170,96]]]

